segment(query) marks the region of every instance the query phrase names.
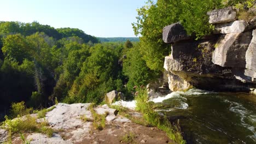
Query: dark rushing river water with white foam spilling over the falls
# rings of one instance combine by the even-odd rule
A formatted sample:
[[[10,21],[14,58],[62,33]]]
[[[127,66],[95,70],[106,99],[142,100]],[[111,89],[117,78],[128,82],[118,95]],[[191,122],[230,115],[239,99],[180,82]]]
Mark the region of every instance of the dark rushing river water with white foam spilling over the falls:
[[[200,89],[150,99],[156,111],[182,128],[187,143],[256,143],[256,96]],[[130,109],[136,102],[118,101]]]

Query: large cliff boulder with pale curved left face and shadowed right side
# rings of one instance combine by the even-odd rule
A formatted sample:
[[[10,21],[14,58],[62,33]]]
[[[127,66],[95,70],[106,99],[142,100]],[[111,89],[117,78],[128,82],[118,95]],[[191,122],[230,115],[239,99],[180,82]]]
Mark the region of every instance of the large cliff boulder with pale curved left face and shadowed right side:
[[[215,45],[212,62],[222,67],[245,68],[245,55],[251,39],[251,31],[223,35]]]

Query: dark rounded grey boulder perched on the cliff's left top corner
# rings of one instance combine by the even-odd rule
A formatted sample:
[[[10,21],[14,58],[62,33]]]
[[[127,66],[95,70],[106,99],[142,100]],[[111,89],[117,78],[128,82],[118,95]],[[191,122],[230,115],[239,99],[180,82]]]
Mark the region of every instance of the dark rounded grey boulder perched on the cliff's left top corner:
[[[180,40],[190,39],[181,22],[166,26],[162,31],[162,39],[165,43],[175,43]]]

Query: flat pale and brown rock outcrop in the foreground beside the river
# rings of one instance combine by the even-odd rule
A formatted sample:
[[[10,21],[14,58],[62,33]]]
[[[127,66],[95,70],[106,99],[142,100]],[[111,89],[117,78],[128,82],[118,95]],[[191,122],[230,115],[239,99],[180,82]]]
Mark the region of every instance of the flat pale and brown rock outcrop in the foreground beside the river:
[[[163,131],[132,123],[130,119],[118,114],[115,109],[107,105],[96,106],[94,111],[98,114],[105,114],[106,127],[102,130],[94,128],[94,120],[91,113],[91,104],[63,104],[59,103],[55,109],[46,113],[44,118],[37,119],[37,122],[46,121],[49,127],[54,129],[52,137],[41,133],[24,133],[31,144],[36,143],[120,143],[123,136],[132,133],[135,135],[133,142],[139,143],[166,143],[173,142],[168,139]],[[140,113],[130,111],[132,117],[142,117]],[[34,116],[34,115],[33,115]],[[81,117],[86,117],[84,121]],[[0,129],[0,143],[8,141],[8,131]],[[9,141],[8,141],[9,142]],[[12,143],[22,143],[20,136],[14,134]]]

